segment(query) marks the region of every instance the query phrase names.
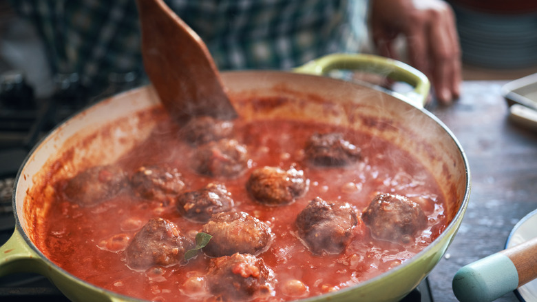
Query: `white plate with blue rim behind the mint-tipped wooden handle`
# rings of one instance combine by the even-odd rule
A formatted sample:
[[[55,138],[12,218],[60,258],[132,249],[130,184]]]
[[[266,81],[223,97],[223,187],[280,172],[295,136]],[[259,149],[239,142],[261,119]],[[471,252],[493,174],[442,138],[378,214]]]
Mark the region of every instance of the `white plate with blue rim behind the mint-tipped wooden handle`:
[[[527,214],[516,223],[511,234],[507,237],[505,248],[511,248],[534,237],[537,237],[537,210]],[[515,290],[515,294],[523,302],[537,301],[537,279],[520,286]]]

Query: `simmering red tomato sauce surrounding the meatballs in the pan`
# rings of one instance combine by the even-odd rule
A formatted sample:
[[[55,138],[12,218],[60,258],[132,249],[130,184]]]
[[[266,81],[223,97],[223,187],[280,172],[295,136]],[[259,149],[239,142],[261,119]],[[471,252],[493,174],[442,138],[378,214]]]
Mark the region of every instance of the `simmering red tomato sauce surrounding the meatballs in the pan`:
[[[306,139],[315,132],[343,132],[361,149],[360,159],[344,167],[326,168],[304,161]],[[151,136],[125,154],[116,165],[126,171],[140,165],[172,165],[185,179],[186,190],[207,183],[224,183],[234,210],[248,212],[266,223],[275,235],[258,255],[275,274],[271,301],[288,301],[324,294],[370,279],[410,259],[445,228],[444,197],[434,177],[411,154],[388,141],[322,123],[267,120],[235,121],[233,138],[246,145],[249,165],[239,177],[202,176],[193,170],[196,147],[178,139],[178,126],[167,119]],[[288,205],[262,205],[250,197],[245,183],[251,171],[263,166],[288,169],[294,165],[309,180],[307,192]],[[58,183],[55,188],[62,188]],[[408,243],[375,239],[361,221],[361,212],[379,193],[400,194],[419,203],[428,222]],[[202,252],[182,265],[132,270],[125,247],[151,218],[176,223],[193,239],[203,223],[181,217],[172,203],[150,201],[126,190],[109,201],[82,206],[55,194],[45,217],[43,252],[74,276],[120,294],[156,301],[214,301],[205,284],[209,257]],[[346,201],[358,213],[352,241],[340,254],[312,254],[297,238],[297,214],[314,199]]]

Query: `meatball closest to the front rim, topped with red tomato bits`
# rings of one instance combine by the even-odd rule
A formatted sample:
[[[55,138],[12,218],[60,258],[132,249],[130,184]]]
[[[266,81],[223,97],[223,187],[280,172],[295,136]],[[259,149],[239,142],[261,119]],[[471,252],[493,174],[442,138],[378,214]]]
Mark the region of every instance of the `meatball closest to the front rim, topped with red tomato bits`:
[[[211,259],[207,281],[217,300],[249,301],[273,296],[275,278],[263,259],[233,254]]]

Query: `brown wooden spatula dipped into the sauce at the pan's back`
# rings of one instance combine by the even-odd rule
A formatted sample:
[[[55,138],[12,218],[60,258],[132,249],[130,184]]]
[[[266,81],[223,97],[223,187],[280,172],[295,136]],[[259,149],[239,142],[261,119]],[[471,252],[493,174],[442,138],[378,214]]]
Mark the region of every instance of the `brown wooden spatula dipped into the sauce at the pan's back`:
[[[162,0],[136,0],[145,71],[179,122],[237,117],[207,46]]]

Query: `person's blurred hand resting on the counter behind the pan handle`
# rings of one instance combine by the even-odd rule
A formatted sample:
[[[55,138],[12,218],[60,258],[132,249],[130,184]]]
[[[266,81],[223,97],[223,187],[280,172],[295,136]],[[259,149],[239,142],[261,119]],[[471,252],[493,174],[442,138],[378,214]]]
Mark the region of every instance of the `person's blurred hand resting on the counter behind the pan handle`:
[[[461,49],[452,8],[442,0],[371,0],[370,26],[379,54],[399,59],[394,41],[406,37],[408,63],[428,76],[436,98],[459,97]]]

